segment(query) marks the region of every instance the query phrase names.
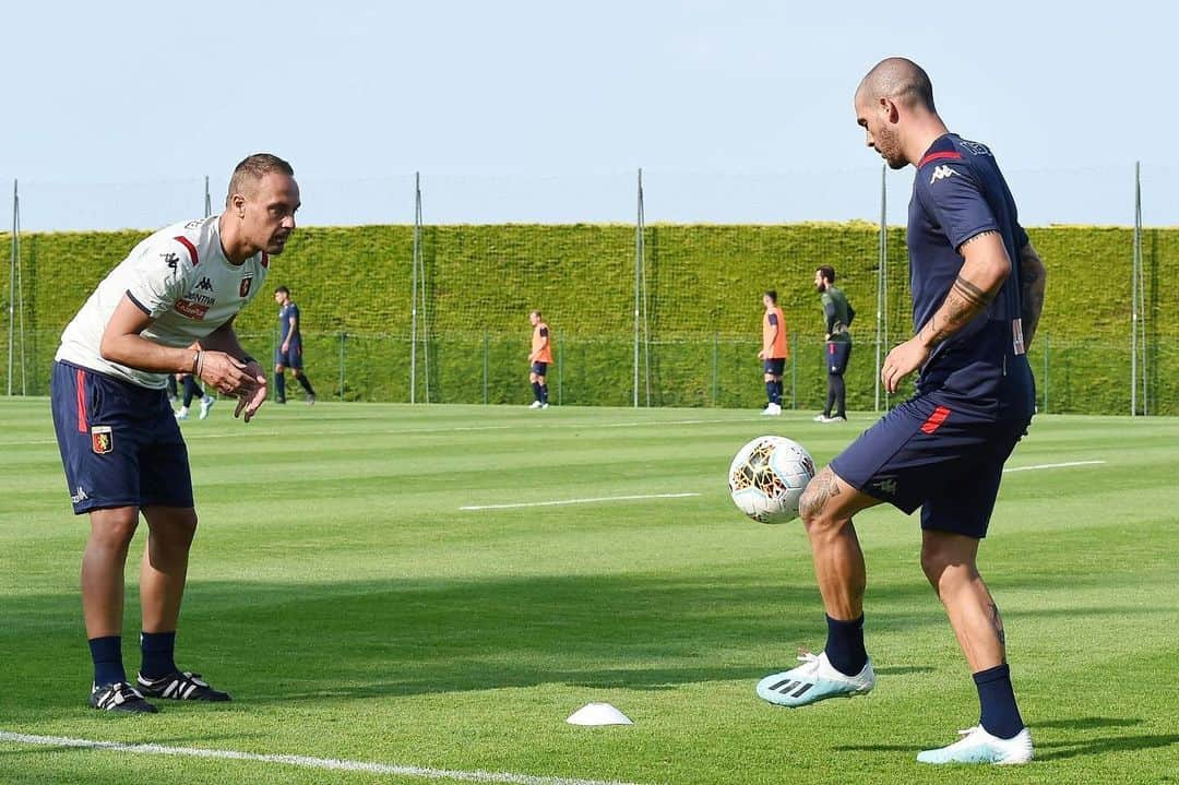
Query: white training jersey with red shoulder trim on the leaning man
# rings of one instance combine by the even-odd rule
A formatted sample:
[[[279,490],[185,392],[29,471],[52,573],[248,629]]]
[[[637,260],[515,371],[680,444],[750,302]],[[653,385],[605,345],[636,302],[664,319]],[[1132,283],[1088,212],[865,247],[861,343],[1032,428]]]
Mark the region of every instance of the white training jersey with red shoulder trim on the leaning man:
[[[184,348],[237,315],[262,290],[270,264],[265,251],[238,265],[222,250],[219,216],[173,224],[131,250],[103,279],[61,334],[57,359],[140,387],[163,389],[166,374],[127,368],[103,358],[99,345],[114,309],[131,297],[152,323],[140,335]]]

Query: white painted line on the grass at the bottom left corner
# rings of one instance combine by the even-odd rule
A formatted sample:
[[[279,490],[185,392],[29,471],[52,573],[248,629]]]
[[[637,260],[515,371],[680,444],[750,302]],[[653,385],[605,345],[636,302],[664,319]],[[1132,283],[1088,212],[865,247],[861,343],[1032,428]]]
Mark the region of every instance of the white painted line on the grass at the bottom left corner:
[[[80,750],[104,750],[130,752],[146,756],[173,756],[182,758],[213,758],[217,760],[252,760],[258,763],[284,764],[303,768],[323,768],[329,771],[358,771],[365,774],[391,774],[396,777],[416,777],[417,779],[449,779],[461,783],[508,783],[509,785],[631,785],[617,780],[572,779],[566,777],[536,777],[533,774],[514,774],[495,771],[455,771],[449,768],[428,768],[426,766],[396,766],[391,764],[367,763],[363,760],[340,760],[336,758],[310,758],[308,756],[271,756],[236,750],[203,750],[199,747],[167,747],[159,744],[126,744],[124,741],[93,741],[90,739],[71,739],[57,735],[29,735],[0,731],[0,741],[12,744],[29,744],[45,747],[72,747]]]

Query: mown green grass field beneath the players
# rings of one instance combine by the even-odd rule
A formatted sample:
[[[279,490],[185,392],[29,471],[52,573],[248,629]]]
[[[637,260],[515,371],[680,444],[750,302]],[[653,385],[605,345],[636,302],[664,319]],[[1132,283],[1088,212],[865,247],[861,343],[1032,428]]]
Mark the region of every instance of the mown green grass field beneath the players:
[[[977,705],[893,509],[857,519],[876,691],[756,698],[824,625],[799,526],[742,517],[729,460],[775,431],[823,462],[870,421],[322,403],[243,426],[223,403],[184,426],[202,528],[178,654],[236,700],[120,718],[85,707],[86,523],[47,402],[5,401],[0,733],[643,784],[1179,781],[1179,420],[1045,416],[1009,462],[1105,461],[1008,475],[983,546],[1034,764],[914,761]],[[676,493],[699,495],[460,509]],[[133,588],[126,624],[133,672]],[[565,724],[592,700],[635,724]],[[421,780],[0,740],[0,781]]]

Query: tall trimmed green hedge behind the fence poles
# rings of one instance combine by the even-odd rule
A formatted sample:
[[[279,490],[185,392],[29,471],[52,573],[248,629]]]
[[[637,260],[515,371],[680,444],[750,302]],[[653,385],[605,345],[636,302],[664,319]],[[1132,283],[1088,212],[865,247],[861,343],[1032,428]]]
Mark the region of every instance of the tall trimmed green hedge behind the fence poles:
[[[1119,227],[1029,230],[1048,271],[1048,298],[1030,361],[1041,392],[1047,359],[1052,411],[1129,408],[1132,232]],[[21,238],[26,371],[44,392],[57,336],[97,281],[145,232],[34,233]],[[904,233],[889,232],[891,343],[910,330]],[[419,344],[419,400],[523,403],[527,312],[541,308],[560,362],[551,387],[567,404],[626,404],[633,395],[634,229],[626,225],[428,226],[429,336]],[[651,401],[660,405],[750,407],[760,401],[756,357],[760,293],[775,288],[797,347],[788,397],[822,404],[822,321],[814,270],[831,264],[856,306],[849,404],[871,408],[878,235],[875,226],[656,225],[647,227]],[[1158,413],[1179,401],[1179,295],[1161,286],[1179,272],[1179,230],[1145,232],[1148,395]],[[7,258],[9,238],[0,235]],[[409,397],[410,226],[299,229],[275,259],[269,289],[291,288],[303,314],[305,361],[324,396]],[[8,310],[8,270],[0,305]],[[269,295],[269,291],[266,292]],[[276,311],[264,298],[239,331],[256,351],[274,343]],[[7,355],[7,324],[0,356]],[[429,356],[429,375],[424,372]],[[6,383],[0,368],[0,383]],[[796,385],[791,396],[791,378]],[[486,381],[485,381],[486,380]],[[19,378],[17,380],[19,387]],[[641,385],[640,400],[646,400]]]

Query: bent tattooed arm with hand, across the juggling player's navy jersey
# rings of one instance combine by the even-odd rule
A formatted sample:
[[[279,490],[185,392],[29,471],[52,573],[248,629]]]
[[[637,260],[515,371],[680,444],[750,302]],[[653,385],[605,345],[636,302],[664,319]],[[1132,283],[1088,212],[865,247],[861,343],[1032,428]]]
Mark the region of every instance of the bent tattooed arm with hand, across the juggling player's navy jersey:
[[[999,232],[975,235],[959,248],[959,252],[966,260],[941,306],[917,335],[884,358],[881,381],[889,392],[896,392],[902,380],[921,368],[937,344],[983,312],[1012,275],[1012,260]]]

